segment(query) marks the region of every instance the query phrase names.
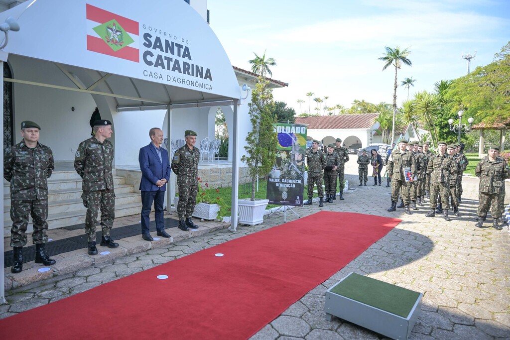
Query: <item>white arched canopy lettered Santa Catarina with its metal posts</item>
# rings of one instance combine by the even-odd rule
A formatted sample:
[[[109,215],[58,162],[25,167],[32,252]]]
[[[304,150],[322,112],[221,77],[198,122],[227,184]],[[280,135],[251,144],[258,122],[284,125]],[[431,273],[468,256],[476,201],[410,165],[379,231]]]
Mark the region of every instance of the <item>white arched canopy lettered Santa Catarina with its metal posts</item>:
[[[232,216],[237,217],[241,91],[221,43],[188,4],[34,0],[0,13],[0,23],[8,17],[17,20],[20,31],[9,33],[0,66],[12,61],[33,69],[27,79],[4,81],[88,93],[101,112],[167,109],[168,140],[172,109],[233,106]],[[68,84],[38,77],[38,68],[48,67],[63,72]],[[0,212],[3,220],[3,203]],[[235,230],[237,218],[231,220]],[[1,250],[3,261],[3,244]],[[3,275],[0,285],[0,303],[5,303]]]

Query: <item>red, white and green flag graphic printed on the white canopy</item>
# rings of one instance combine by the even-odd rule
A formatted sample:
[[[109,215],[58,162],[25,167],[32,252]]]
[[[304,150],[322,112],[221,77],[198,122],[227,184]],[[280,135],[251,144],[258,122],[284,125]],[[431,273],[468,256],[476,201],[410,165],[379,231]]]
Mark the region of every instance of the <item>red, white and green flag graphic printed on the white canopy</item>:
[[[140,61],[137,21],[87,4],[87,49]]]

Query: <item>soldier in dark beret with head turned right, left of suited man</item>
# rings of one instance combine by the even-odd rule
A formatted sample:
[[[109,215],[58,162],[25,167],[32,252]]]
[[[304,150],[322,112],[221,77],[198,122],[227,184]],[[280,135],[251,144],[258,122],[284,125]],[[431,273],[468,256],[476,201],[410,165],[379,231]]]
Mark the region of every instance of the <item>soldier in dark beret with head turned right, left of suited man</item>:
[[[112,137],[112,123],[106,119],[94,122],[95,135],[78,146],[74,158],[74,169],[82,177],[82,199],[87,208],[85,233],[88,241],[88,254],[97,255],[96,223],[101,210],[101,246],[117,248],[118,243],[110,237],[115,219],[115,193],[113,192],[113,145],[107,140]]]

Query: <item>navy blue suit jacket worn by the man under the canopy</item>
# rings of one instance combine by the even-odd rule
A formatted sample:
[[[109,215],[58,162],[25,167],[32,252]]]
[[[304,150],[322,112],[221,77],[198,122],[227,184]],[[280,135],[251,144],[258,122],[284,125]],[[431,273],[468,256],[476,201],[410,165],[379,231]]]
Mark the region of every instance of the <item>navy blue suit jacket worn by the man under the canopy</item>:
[[[142,180],[140,181],[139,188],[141,191],[166,190],[166,184],[161,188],[158,188],[156,185],[156,182],[163,178],[168,182],[171,172],[168,151],[161,146],[160,149],[163,162],[160,161],[154,144],[150,143],[140,149],[138,162],[140,163],[140,170],[142,171]]]

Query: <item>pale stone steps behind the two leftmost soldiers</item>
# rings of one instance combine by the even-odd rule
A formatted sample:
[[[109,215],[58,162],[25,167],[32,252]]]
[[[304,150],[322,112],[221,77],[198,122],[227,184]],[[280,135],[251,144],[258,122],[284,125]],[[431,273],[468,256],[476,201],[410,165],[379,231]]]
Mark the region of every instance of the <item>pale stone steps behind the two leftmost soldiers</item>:
[[[115,174],[116,172],[114,172]],[[115,217],[140,214],[140,194],[133,185],[125,184],[125,178],[114,176]],[[87,209],[83,206],[82,179],[75,171],[56,171],[48,179],[48,229],[82,224]],[[4,180],[4,237],[10,236],[11,198],[9,182]],[[99,212],[98,220],[101,213]],[[33,232],[32,218],[29,218],[28,232]]]

